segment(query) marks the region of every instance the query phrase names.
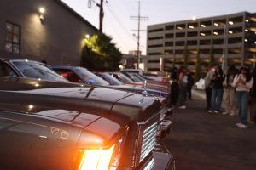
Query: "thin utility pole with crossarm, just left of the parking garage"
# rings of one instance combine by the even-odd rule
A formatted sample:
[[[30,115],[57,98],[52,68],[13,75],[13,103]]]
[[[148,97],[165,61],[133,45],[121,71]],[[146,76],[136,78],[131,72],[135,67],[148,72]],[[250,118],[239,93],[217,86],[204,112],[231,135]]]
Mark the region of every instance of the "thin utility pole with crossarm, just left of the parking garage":
[[[148,17],[141,16],[141,2],[138,1],[138,14],[137,16],[131,16],[131,20],[138,20],[137,22],[137,69],[139,68],[140,59],[140,31],[141,31],[141,20],[148,20]]]

